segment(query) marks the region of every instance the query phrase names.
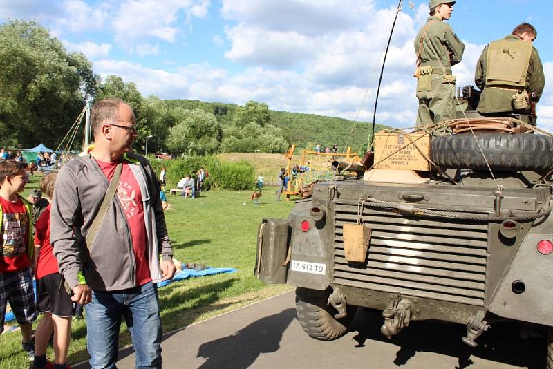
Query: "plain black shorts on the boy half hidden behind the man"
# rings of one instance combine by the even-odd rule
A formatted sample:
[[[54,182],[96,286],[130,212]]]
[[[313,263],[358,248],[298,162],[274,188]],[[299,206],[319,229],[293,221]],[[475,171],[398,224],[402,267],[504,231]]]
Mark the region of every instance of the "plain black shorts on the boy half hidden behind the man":
[[[62,274],[53,273],[37,279],[37,310],[61,317],[75,314],[71,296],[62,285]]]

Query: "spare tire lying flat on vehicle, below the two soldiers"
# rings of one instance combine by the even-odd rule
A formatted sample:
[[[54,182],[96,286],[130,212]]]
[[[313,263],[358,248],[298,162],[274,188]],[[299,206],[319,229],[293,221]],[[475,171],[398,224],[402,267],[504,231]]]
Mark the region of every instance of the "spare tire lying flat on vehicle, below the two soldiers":
[[[546,135],[461,133],[432,139],[431,158],[441,168],[487,170],[482,153],[496,171],[553,169],[553,138]]]

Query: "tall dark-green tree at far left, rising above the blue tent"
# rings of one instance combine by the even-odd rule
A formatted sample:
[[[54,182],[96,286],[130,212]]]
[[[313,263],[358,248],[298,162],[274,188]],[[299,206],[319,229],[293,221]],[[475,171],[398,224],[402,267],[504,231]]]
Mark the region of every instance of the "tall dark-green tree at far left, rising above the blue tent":
[[[0,144],[57,147],[99,77],[35,21],[0,25]],[[83,93],[84,91],[84,93]]]

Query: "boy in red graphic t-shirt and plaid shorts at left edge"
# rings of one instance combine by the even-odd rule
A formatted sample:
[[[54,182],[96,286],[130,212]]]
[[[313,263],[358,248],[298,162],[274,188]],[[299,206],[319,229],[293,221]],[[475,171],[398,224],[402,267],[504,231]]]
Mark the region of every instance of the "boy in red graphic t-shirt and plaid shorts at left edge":
[[[28,182],[25,167],[15,160],[0,162],[0,333],[9,301],[21,327],[23,350],[32,359],[31,324],[37,319],[32,289],[32,205],[17,194]]]

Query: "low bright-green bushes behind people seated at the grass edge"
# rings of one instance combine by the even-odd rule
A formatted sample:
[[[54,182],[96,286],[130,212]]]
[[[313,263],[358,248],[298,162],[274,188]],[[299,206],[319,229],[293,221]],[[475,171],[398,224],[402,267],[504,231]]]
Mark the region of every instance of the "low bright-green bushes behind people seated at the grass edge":
[[[216,156],[189,156],[184,159],[162,160],[148,158],[153,170],[159,173],[162,167],[167,171],[167,189],[176,188],[178,181],[183,176],[190,174],[196,178],[196,173],[203,167],[206,174],[209,174],[203,182],[203,189],[207,191],[214,189],[249,189],[254,183],[254,166],[247,161],[236,163],[221,162]]]

